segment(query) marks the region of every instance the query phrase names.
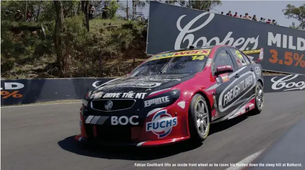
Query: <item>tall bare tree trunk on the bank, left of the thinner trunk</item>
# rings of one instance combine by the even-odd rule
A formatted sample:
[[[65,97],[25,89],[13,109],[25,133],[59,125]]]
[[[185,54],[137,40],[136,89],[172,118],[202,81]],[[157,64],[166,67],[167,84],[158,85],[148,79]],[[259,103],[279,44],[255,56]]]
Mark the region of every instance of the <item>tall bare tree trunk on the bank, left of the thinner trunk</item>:
[[[62,55],[61,46],[61,33],[64,22],[63,7],[61,1],[53,1],[56,11],[55,33],[54,33],[54,45],[56,51],[56,65],[57,68],[63,73],[64,70],[64,58]]]

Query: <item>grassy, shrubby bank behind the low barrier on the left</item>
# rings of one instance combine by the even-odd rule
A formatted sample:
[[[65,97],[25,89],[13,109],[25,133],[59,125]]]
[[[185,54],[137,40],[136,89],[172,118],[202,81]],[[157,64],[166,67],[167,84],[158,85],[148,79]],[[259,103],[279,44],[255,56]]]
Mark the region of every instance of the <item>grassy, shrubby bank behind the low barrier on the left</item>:
[[[61,38],[63,56],[67,66],[62,75],[54,65],[56,61],[53,42],[54,20],[43,23],[2,20],[2,77],[122,76],[133,68],[131,66],[134,63],[133,59],[122,58],[131,47],[133,40],[142,36],[143,23],[115,17],[113,19],[93,19],[90,20],[90,32],[86,30],[83,23],[82,13],[64,19]],[[41,31],[41,24],[46,29],[46,38]],[[100,59],[101,65],[99,65]],[[102,69],[101,74],[100,69]]]

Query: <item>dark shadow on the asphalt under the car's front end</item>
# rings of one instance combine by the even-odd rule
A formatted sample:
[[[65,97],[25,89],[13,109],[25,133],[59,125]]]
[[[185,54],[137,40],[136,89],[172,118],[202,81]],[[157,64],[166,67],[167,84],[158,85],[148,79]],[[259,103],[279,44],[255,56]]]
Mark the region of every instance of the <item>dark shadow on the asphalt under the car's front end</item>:
[[[154,160],[173,156],[179,153],[194,150],[202,143],[194,144],[183,141],[160,147],[132,147],[132,146],[100,146],[97,144],[83,145],[70,136],[58,142],[58,145],[66,151],[95,158],[122,159],[122,160]]]

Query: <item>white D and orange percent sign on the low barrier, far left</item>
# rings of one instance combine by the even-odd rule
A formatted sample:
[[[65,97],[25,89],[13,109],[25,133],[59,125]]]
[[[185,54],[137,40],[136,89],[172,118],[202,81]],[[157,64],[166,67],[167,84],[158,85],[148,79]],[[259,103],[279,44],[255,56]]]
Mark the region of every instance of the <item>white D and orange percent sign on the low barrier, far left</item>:
[[[22,94],[19,94],[19,89],[24,88],[25,85],[23,83],[19,82],[5,82],[4,83],[4,89],[1,89],[1,96],[3,96],[3,99],[12,97],[12,98],[20,98],[23,97]],[[5,90],[5,91],[3,91]],[[12,91],[13,90],[13,91]]]

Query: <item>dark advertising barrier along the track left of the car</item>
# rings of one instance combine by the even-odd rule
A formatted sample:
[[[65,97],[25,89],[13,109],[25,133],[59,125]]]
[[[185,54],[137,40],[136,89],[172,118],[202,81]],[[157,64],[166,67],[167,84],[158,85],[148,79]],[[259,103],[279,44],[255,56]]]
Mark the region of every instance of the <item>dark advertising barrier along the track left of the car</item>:
[[[82,99],[87,90],[113,78],[1,80],[1,105]]]

